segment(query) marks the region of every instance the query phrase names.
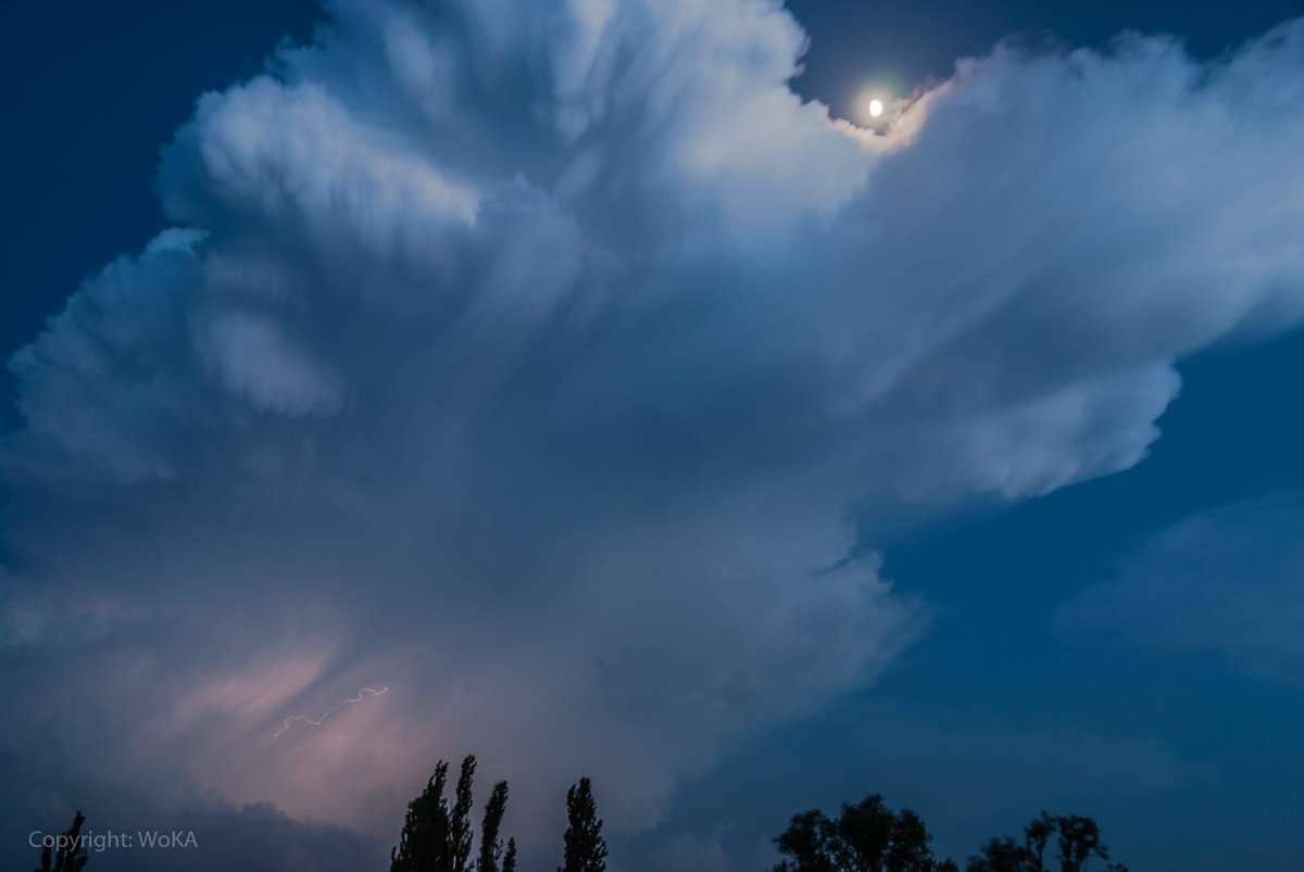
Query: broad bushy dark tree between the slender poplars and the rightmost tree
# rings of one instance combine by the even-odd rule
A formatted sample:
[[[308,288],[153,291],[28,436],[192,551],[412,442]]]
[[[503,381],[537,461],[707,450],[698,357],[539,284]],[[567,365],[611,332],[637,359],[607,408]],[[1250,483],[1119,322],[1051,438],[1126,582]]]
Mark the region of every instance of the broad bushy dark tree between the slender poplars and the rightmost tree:
[[[792,859],[772,872],[958,872],[952,860],[934,859],[931,841],[918,815],[896,815],[871,794],[857,806],[842,803],[837,820],[818,809],[794,815],[775,839]]]

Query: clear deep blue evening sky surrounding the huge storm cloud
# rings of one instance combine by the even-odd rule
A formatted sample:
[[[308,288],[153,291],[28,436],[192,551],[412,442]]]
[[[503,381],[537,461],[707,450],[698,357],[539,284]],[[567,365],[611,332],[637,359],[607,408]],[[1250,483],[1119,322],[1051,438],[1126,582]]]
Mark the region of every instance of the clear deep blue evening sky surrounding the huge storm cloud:
[[[1102,47],[1125,29],[1175,33],[1204,60],[1304,13],[1304,4],[1284,0],[788,7],[811,36],[794,90],[838,116],[853,113],[866,82],[889,82],[905,94],[945,80],[956,57],[982,55],[1008,35]],[[173,223],[154,186],[159,149],[194,115],[198,95],[259,73],[283,38],[306,43],[318,17],[314,3],[0,5],[5,357],[40,332],[83,278],[120,254],[137,254]],[[1149,323],[1142,330],[1162,332]],[[816,705],[797,703],[781,717],[759,717],[762,729],[703,752],[719,765],[689,766],[665,821],[614,837],[613,859],[625,852],[630,868],[652,868],[679,856],[686,859],[678,868],[690,872],[760,868],[764,839],[793,812],[831,811],[883,792],[892,806],[918,809],[939,852],[957,859],[990,836],[1016,833],[1047,808],[1095,816],[1114,856],[1133,872],[1297,868],[1304,855],[1304,643],[1291,643],[1290,632],[1304,627],[1294,593],[1304,579],[1304,564],[1294,562],[1304,530],[1291,519],[1304,499],[1304,336],[1282,330],[1266,340],[1232,335],[1179,360],[1180,395],[1158,418],[1162,435],[1149,456],[1132,468],[1042,497],[930,503],[919,514],[926,520],[900,525],[882,524],[872,508],[849,507],[849,517],[859,521],[858,549],[882,553],[883,577],[897,584],[898,594],[927,603],[927,630],[880,663],[882,675],[867,688],[831,691]],[[683,348],[691,371],[702,352],[691,342]],[[1017,360],[1017,349],[1012,355]],[[1035,368],[1038,358],[1029,355]],[[670,369],[668,383],[691,382],[675,382],[679,370]],[[7,375],[7,392],[17,383]],[[532,382],[522,383],[528,392]],[[656,403],[673,404],[653,391]],[[7,416],[9,429],[21,428],[10,405]],[[503,420],[514,426],[526,418],[505,413]],[[715,421],[707,416],[692,424],[708,430],[703,420]],[[692,424],[683,431],[700,433]],[[681,456],[673,442],[681,435],[666,437],[665,456]],[[211,444],[220,452],[233,442]],[[322,444],[322,454],[331,450],[325,437]],[[352,471],[374,461],[359,455],[348,463]],[[617,477],[619,463],[612,460]],[[505,469],[510,477],[514,467]],[[691,477],[698,469],[686,463],[674,472]],[[48,508],[42,499],[35,504]],[[256,502],[248,494],[240,499]],[[253,511],[246,502],[233,504],[240,508],[228,517]],[[25,528],[14,511],[7,523]],[[70,516],[93,515],[78,512]],[[519,521],[507,516],[509,528]],[[72,536],[86,541],[116,534],[80,523],[69,525],[81,530]],[[1192,545],[1184,523],[1214,530],[1196,537],[1200,542],[1226,530],[1226,546],[1221,540],[1208,546],[1217,559]],[[480,534],[473,519],[466,524],[468,538]],[[1267,547],[1279,559],[1258,563],[1237,551],[1244,529],[1256,525],[1273,530]],[[549,537],[552,527],[512,529],[526,549]],[[14,572],[40,550],[23,536],[7,533],[8,550],[0,553]],[[136,540],[124,541],[126,551]],[[505,567],[515,566],[512,547],[496,557]],[[106,563],[126,566],[113,563],[119,551],[112,554]],[[1200,567],[1210,564],[1219,567],[1217,577],[1201,575]],[[1168,587],[1155,587],[1161,576]],[[1174,592],[1184,600],[1187,590],[1197,606],[1174,602]],[[469,606],[468,614],[476,615],[468,620],[482,618]],[[1219,623],[1219,615],[1235,618]],[[7,667],[37,669],[18,661]],[[347,666],[333,669],[335,678],[353,680]],[[0,855],[26,856],[9,845]],[[126,868],[113,862],[121,860],[93,860]]]

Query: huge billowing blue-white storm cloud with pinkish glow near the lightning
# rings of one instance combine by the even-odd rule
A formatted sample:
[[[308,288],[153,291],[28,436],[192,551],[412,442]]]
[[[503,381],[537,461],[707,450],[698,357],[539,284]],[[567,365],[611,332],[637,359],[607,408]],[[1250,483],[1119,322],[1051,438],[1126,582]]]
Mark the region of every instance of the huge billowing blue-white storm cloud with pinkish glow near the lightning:
[[[528,838],[583,773],[645,826],[921,632],[853,502],[1124,469],[1176,358],[1304,317],[1299,22],[998,48],[879,136],[772,3],[330,12],[10,362],[4,644],[63,690],[7,729],[90,706],[154,790],[383,834],[473,749]]]

